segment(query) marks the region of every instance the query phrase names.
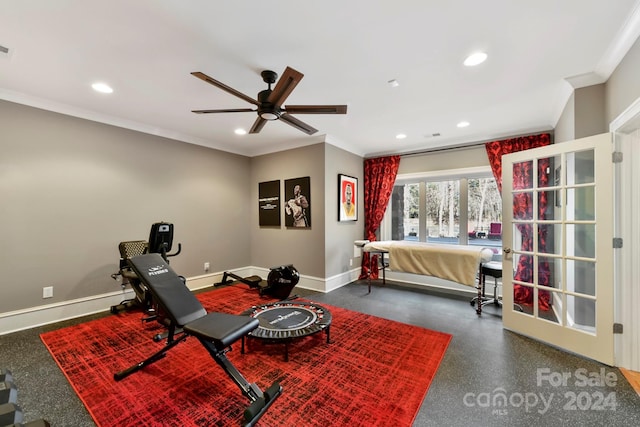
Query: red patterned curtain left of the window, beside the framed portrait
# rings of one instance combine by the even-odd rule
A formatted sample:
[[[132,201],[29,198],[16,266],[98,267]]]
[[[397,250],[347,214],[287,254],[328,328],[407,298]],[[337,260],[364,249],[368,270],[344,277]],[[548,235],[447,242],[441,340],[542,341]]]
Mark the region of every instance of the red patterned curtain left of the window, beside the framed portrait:
[[[393,184],[396,182],[400,156],[377,157],[364,161],[364,238],[376,240],[384,212],[389,204]],[[378,278],[378,257],[362,254],[360,279]]]

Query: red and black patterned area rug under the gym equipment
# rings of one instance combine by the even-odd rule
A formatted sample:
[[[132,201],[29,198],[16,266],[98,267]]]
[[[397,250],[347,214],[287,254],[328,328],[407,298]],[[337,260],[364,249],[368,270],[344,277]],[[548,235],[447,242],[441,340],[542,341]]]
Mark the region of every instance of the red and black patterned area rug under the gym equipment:
[[[240,313],[267,302],[244,285],[198,295],[207,311]],[[410,426],[451,335],[322,304],[332,316],[331,344],[318,333],[291,344],[252,339],[227,356],[263,390],[283,393],[259,426]],[[114,372],[163,344],[141,313],[110,315],[41,335],[98,426],[233,426],[248,406],[240,389],[194,338],[116,382]]]

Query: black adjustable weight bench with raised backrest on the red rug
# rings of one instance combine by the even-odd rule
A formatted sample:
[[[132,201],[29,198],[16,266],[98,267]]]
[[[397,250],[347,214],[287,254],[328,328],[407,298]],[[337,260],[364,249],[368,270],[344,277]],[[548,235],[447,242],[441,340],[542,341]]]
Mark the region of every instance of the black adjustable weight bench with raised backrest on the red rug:
[[[142,362],[116,373],[115,380],[122,380],[158,361],[173,347],[193,336],[250,400],[250,405],[244,411],[243,425],[253,426],[280,396],[282,387],[274,382],[263,392],[257,384],[250,384],[242,376],[226,353],[231,351],[231,344],[258,327],[258,319],[226,313],[207,313],[160,254],[138,255],[129,262],[140,280],[149,288],[165,320],[168,319],[168,336],[164,348]]]

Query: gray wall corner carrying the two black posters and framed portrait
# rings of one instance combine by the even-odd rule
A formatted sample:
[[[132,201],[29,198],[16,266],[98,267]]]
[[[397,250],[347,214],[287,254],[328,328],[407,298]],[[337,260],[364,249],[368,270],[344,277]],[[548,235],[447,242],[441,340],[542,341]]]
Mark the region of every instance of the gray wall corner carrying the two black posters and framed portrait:
[[[333,145],[320,143],[251,159],[251,260],[254,266],[293,264],[301,274],[319,279],[358,268],[353,241],[364,234],[363,159]],[[338,222],[338,174],[358,178],[357,221]],[[311,228],[286,228],[258,224],[258,184],[280,180],[281,200],[287,200],[284,181],[311,178]]]

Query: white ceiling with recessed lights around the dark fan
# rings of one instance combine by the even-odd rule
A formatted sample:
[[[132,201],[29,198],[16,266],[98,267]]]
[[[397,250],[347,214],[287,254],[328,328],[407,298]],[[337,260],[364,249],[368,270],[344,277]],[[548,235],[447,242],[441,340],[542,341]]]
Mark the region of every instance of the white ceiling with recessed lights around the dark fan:
[[[461,145],[552,129],[572,87],[606,81],[637,39],[639,3],[0,0],[0,99],[248,156],[325,140],[362,156]],[[477,50],[488,60],[464,67]],[[253,107],[193,71],[255,97],[260,71],[286,66],[304,78],[285,105],[347,115],[297,115],[313,136],[278,122],[238,136],[256,113],[191,112]]]

